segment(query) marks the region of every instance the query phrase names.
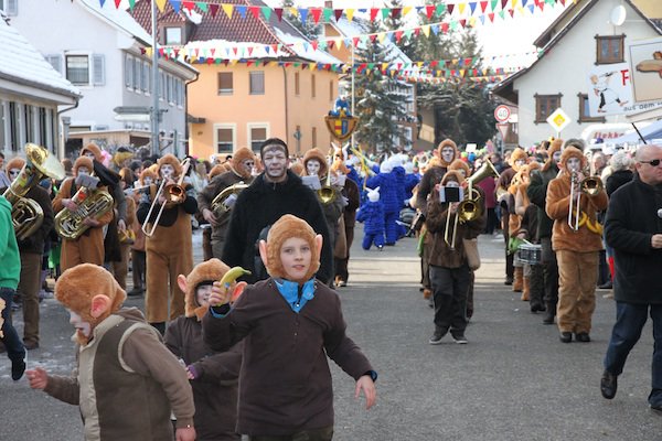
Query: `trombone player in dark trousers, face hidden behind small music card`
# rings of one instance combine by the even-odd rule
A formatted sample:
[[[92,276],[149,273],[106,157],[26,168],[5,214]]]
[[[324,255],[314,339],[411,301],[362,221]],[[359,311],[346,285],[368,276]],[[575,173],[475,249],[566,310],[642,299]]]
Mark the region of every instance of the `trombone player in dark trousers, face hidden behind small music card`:
[[[467,344],[465,330],[471,270],[467,261],[463,239],[473,239],[481,234],[485,227],[485,212],[483,208],[481,215],[474,219],[456,222],[460,203],[440,200],[442,186],[459,187],[463,181],[458,171],[448,171],[441,179],[441,183],[435,186],[427,203],[426,226],[431,233],[428,266],[435,306],[435,332],[429,340],[431,345],[440,344],[448,332],[456,343]],[[481,196],[477,204],[484,205],[484,196]],[[447,235],[449,229],[455,229],[455,233]],[[446,236],[450,244],[446,243]]]

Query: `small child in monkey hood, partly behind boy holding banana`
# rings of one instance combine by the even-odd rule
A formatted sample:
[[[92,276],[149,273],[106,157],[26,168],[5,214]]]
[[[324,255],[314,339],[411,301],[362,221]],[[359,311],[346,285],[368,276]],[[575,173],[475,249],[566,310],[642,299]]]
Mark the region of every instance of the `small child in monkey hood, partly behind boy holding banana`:
[[[199,441],[239,440],[235,432],[237,389],[243,343],[224,353],[214,353],[202,340],[203,315],[210,308],[212,284],[229,271],[218,259],[197,265],[189,276],[177,279],[186,293],[186,315],[168,325],[166,346],[186,366],[195,400],[195,431]],[[246,282],[232,282],[241,293]]]

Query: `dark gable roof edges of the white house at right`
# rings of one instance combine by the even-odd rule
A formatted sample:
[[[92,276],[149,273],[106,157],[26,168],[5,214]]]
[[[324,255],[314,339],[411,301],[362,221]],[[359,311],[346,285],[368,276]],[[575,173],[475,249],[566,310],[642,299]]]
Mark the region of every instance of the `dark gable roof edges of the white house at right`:
[[[662,28],[660,28],[659,21],[653,21],[645,17],[643,12],[637,8],[637,6],[632,2],[632,0],[623,0],[630,8],[637,12],[644,22],[647,22],[658,34],[662,35]],[[535,40],[534,44],[540,47],[540,44],[543,44],[543,54],[548,53],[558,42],[588,13],[588,11],[598,3],[598,0],[588,0],[584,8],[577,11],[577,8],[581,8],[580,3],[574,3],[569,6],[547,29]],[[569,14],[575,13],[572,20],[564,26],[564,29],[557,33],[555,32],[556,25],[565,20]],[[658,24],[655,24],[658,23]],[[494,88],[493,93],[499,95],[513,104],[517,104],[517,95],[513,90],[513,83],[519,77],[525,75],[530,72],[543,57],[541,55],[536,61],[534,61],[531,66],[523,68],[515,73],[514,75],[509,76],[503,82],[499,83]]]

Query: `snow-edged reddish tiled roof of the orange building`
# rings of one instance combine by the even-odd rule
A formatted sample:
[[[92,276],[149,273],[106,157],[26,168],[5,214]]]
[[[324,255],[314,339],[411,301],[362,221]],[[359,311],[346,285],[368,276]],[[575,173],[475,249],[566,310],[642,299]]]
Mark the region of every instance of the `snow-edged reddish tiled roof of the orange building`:
[[[220,0],[210,1],[209,4],[221,4]],[[223,0],[223,4],[234,4],[233,18],[229,19],[222,8],[216,10],[216,15],[212,15],[212,8],[206,12],[196,10],[201,15],[199,24],[189,21],[183,12],[174,12],[170,2],[166,3],[163,12],[158,12],[157,20],[160,24],[186,24],[186,46],[189,47],[237,47],[236,43],[246,43],[244,46],[256,45],[289,45],[284,51],[266,52],[261,49],[254,51],[250,58],[260,57],[298,57],[317,63],[340,63],[338,58],[319,49],[313,49],[310,44],[303,47],[301,44],[310,43],[295,26],[287,20],[278,20],[276,14],[271,14],[268,21],[258,14],[255,18],[249,11],[245,11],[245,18],[239,18],[237,7],[266,7],[260,0]],[[151,29],[151,2],[150,0],[139,0],[134,9],[134,18],[145,28]],[[239,54],[241,55],[241,54]],[[222,54],[224,58],[238,58],[232,51],[225,51]]]

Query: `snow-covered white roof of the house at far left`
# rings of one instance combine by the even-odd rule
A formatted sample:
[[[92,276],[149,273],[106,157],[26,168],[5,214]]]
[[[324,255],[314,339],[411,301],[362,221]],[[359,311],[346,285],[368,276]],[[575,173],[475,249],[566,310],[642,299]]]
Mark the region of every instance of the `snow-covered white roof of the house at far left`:
[[[81,90],[51,66],[44,56],[0,15],[0,76],[14,83],[79,98]]]

